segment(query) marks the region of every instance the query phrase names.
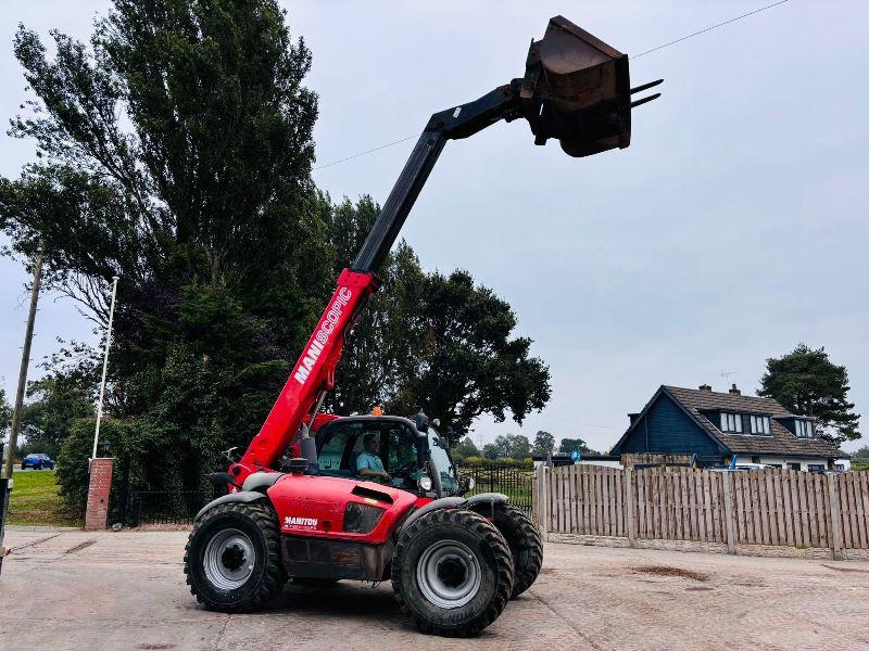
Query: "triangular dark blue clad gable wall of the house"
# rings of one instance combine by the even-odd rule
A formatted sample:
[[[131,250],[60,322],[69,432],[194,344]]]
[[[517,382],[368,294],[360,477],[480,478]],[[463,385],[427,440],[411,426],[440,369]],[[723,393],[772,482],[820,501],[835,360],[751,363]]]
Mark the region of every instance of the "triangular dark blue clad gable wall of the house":
[[[632,431],[613,448],[614,455],[625,452],[715,456],[727,450],[662,391]]]

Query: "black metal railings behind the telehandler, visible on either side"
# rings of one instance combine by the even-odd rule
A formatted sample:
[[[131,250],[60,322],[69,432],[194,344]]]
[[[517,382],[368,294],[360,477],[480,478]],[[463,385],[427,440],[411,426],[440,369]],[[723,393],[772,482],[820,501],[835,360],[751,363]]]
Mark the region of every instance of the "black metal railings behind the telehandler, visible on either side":
[[[126,470],[126,469],[125,469]],[[123,471],[122,471],[123,472]],[[128,470],[127,470],[128,473]],[[127,473],[124,473],[126,480]],[[503,493],[512,505],[531,513],[533,470],[515,465],[459,467],[461,481],[474,477],[474,489],[467,496],[480,493]],[[110,523],[124,526],[192,524],[199,510],[224,493],[214,490],[129,490],[122,480],[121,490],[112,496]]]

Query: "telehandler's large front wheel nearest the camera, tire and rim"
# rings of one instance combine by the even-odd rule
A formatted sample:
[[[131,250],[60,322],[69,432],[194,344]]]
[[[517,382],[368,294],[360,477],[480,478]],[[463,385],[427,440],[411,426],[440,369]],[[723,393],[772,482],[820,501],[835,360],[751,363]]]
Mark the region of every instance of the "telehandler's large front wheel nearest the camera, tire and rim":
[[[504,537],[478,513],[432,511],[401,532],[392,588],[421,631],[471,636],[506,607],[513,559]]]

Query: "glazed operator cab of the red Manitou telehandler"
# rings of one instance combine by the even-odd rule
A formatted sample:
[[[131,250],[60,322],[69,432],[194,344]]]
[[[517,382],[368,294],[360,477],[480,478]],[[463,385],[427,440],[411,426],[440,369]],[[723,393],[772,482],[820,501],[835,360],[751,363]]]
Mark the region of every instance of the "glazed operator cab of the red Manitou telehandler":
[[[455,495],[458,480],[446,442],[433,427],[417,430],[413,421],[394,416],[357,416],[330,421],[316,433],[319,474],[380,482],[419,495]],[[386,477],[362,477],[356,461],[364,439],[374,435]]]

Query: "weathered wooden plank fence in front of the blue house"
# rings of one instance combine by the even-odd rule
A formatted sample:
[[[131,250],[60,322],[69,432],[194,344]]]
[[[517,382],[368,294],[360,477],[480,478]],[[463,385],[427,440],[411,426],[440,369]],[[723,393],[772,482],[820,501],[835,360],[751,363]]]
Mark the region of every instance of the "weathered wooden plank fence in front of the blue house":
[[[708,470],[632,472],[630,486],[626,471],[613,468],[541,472],[533,495],[542,501],[534,512],[550,532],[619,537],[633,532],[641,539],[728,542],[731,550],[733,545],[831,548],[835,525],[843,549],[869,549],[869,472],[770,469],[733,473],[727,483],[723,473]]]

